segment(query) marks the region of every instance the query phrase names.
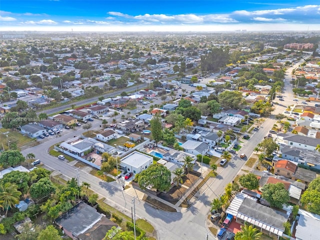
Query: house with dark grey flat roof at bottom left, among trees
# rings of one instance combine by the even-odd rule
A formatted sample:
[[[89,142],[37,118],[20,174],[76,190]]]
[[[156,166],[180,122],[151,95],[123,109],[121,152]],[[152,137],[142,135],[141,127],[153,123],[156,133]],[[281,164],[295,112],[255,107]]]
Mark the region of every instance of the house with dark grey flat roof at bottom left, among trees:
[[[74,240],[102,240],[105,237],[105,232],[110,230],[112,226],[117,226],[105,215],[82,201],[53,222]]]

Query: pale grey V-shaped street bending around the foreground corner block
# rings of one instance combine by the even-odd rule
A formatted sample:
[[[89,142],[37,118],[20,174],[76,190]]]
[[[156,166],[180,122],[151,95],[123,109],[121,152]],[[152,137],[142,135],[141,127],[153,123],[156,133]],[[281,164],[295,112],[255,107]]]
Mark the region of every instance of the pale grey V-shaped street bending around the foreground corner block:
[[[287,91],[290,89],[289,81],[290,77],[286,77],[285,92],[283,95],[287,95]],[[285,105],[275,105],[274,114],[283,112]],[[219,194],[223,193],[224,186],[231,182],[234,176],[239,172],[242,165],[245,163],[244,159],[239,158],[239,154],[245,153],[250,155],[253,152],[254,147],[260,142],[263,137],[268,133],[268,130],[275,123],[275,119],[271,116],[266,119],[262,124],[262,127],[251,136],[249,142],[245,144],[236,156],[224,167],[221,173],[214,179],[214,181],[207,186],[207,190],[201,194],[198,200],[186,211],[178,213],[168,213],[160,210],[156,210],[142,201],[136,200],[135,209],[136,216],[143,217],[153,224],[158,231],[158,239],[206,239],[207,229],[205,227],[206,215],[209,211],[209,203]],[[98,124],[98,122],[95,122]],[[92,127],[93,128],[93,127]],[[75,132],[80,133],[84,131],[79,129]],[[59,140],[72,137],[74,131],[64,133]],[[33,152],[36,158],[39,158],[45,165],[52,169],[58,170],[61,173],[75,177],[75,167],[69,165],[66,162],[58,160],[56,157],[48,155],[43,149],[47,149],[49,146],[56,143],[56,139],[50,139],[42,144],[22,151],[25,155],[29,152]],[[90,183],[92,190],[104,196],[108,203],[115,208],[130,215],[132,196],[121,191],[115,186],[112,186],[106,182],[102,182],[98,178],[80,171],[80,182],[86,181]],[[208,235],[208,239],[215,239],[211,234]]]

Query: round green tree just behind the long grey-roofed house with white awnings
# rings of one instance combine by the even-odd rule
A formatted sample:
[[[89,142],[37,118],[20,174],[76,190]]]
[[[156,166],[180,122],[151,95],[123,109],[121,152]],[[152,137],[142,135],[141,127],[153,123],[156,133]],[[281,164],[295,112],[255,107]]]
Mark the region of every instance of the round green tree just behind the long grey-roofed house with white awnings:
[[[289,192],[285,189],[282,182],[275,184],[268,183],[262,187],[262,197],[267,200],[271,206],[281,208],[283,203],[289,201]]]

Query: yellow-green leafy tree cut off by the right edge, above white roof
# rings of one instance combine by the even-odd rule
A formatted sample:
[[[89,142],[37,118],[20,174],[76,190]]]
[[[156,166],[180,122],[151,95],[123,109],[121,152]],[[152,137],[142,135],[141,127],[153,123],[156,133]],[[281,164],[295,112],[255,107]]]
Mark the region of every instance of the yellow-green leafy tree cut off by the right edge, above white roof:
[[[320,177],[309,183],[301,196],[301,202],[308,211],[320,214]]]

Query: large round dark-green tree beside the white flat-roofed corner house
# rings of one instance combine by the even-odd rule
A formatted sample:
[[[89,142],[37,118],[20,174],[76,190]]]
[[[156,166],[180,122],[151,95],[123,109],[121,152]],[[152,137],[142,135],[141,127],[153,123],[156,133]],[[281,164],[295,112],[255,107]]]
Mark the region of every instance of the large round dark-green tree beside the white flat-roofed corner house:
[[[171,186],[171,172],[160,164],[150,165],[145,170],[136,174],[135,179],[142,189],[151,186],[157,191],[167,191]]]

